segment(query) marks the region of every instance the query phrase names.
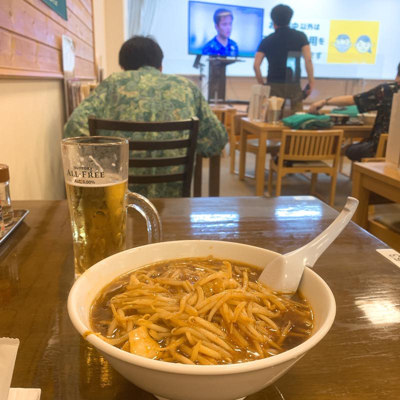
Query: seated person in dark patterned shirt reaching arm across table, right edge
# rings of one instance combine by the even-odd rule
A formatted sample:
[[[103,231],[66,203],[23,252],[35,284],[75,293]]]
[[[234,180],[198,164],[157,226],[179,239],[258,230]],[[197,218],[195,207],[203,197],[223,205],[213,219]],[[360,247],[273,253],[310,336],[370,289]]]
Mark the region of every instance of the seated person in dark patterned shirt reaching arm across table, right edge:
[[[390,111],[393,94],[400,90],[400,63],[397,66],[397,75],[394,81],[379,84],[363,93],[329,97],[311,104],[309,112],[316,113],[324,105],[352,105],[355,104],[359,112],[376,110],[377,115],[370,136],[359,142],[350,144],[346,148],[346,156],[353,161],[360,161],[363,157],[373,157],[381,133],[389,130]]]

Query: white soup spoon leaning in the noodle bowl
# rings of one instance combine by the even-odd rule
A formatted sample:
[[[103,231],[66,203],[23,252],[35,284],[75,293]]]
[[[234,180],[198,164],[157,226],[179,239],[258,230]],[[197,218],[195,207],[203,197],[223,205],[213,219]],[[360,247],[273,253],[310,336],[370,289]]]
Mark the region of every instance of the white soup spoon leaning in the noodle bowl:
[[[357,205],[356,198],[347,197],[344,208],[322,233],[304,246],[278,255],[265,266],[258,280],[273,291],[294,293],[300,283],[304,267],[314,266],[318,257],[347,225]]]

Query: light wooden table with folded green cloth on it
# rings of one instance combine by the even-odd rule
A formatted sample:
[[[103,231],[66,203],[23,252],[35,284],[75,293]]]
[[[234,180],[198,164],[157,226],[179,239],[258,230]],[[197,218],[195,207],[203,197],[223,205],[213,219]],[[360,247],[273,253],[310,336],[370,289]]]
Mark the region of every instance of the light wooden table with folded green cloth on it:
[[[257,196],[261,196],[264,193],[266,140],[280,139],[284,129],[289,129],[289,127],[284,126],[282,122],[255,122],[249,120],[247,117],[241,119],[239,179],[244,179],[247,134],[256,135],[258,137],[258,152],[256,154],[257,164],[255,166],[255,194]],[[332,126],[332,129],[342,129],[344,132],[343,137],[345,139],[354,137],[368,137],[372,130],[372,125],[334,125]]]

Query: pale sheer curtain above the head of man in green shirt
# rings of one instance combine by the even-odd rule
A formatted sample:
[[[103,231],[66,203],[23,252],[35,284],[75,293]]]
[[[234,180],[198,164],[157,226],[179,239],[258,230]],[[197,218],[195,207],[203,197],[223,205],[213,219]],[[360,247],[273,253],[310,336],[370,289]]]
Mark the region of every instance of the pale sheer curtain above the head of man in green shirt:
[[[127,34],[148,36],[159,0],[127,0]]]

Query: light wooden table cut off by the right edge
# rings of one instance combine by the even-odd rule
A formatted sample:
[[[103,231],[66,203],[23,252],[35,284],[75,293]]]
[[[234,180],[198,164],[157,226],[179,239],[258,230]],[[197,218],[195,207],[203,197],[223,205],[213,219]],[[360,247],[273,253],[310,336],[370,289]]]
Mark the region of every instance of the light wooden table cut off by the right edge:
[[[398,233],[390,231],[380,223],[368,220],[368,205],[371,193],[400,203],[400,170],[389,162],[354,162],[352,180],[351,195],[359,200],[353,221],[388,244],[399,247]]]

